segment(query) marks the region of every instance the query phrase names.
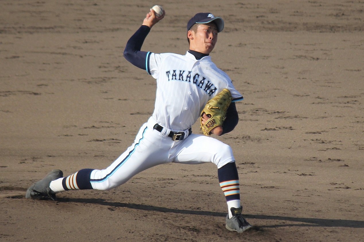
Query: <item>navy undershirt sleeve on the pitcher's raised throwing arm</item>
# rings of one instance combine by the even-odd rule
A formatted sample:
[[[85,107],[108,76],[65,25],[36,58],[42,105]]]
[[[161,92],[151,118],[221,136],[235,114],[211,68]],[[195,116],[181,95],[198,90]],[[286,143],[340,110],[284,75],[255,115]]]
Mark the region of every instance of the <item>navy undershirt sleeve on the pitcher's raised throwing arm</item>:
[[[150,32],[150,28],[142,25],[137,32],[128,40],[124,50],[124,57],[131,64],[146,70],[146,60],[149,52],[141,51],[145,38]]]

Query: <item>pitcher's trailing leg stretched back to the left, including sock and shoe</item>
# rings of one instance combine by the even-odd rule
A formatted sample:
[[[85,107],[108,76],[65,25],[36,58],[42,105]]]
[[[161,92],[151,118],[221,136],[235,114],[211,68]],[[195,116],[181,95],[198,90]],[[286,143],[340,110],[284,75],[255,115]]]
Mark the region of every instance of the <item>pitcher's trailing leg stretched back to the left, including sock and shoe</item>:
[[[60,170],[52,171],[46,178],[29,187],[26,198],[51,198],[55,193],[67,190],[110,190],[127,182],[135,174],[152,166],[168,162],[170,144],[147,124],[139,130],[132,144],[108,168],[82,169],[63,177]],[[171,141],[172,142],[172,141]],[[157,144],[158,147],[154,147]],[[61,174],[62,173],[62,174]],[[36,189],[35,189],[36,188]]]

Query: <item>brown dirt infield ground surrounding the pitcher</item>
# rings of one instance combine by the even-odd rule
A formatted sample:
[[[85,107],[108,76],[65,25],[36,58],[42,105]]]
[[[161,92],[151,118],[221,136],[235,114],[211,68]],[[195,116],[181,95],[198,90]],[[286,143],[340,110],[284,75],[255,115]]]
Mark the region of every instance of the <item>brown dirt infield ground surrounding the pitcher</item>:
[[[213,61],[245,100],[232,146],[245,217],[213,164],[166,164],[110,191],[25,199],[52,169],[103,169],[154,108],[155,80],[122,55],[187,51],[197,12],[225,20]],[[364,241],[364,1],[0,1],[0,241]],[[195,133],[199,132],[194,125]],[[211,147],[214,149],[214,147]]]

